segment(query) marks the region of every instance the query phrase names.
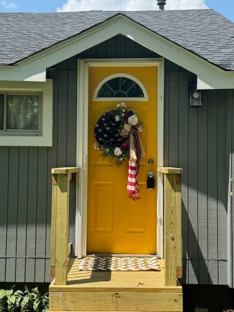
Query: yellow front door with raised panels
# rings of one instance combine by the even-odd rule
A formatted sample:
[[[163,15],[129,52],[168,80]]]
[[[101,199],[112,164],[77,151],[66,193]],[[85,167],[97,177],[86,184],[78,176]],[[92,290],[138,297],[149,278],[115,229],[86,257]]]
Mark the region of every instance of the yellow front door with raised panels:
[[[146,156],[140,164],[139,200],[126,192],[128,162],[116,167],[94,150],[99,117],[123,100],[95,100],[100,81],[115,73],[132,75],[145,86],[148,99],[124,101],[145,129],[140,134]],[[121,76],[121,74],[119,75]],[[148,164],[152,158],[154,164]],[[88,135],[87,254],[156,254],[156,181],[147,190],[147,175],[157,171],[157,67],[90,67]]]

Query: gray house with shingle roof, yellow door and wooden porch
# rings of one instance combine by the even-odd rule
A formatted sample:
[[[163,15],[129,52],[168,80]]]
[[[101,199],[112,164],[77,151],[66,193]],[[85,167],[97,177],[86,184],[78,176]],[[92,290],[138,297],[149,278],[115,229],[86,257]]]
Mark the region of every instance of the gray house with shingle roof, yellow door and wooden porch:
[[[0,28],[0,282],[51,282],[52,266],[51,311],[182,311],[181,275],[233,288],[234,23],[211,9],[88,11],[0,13]],[[145,126],[138,201],[127,167],[93,148],[121,102]],[[68,221],[73,257],[157,254],[168,280],[80,277]]]

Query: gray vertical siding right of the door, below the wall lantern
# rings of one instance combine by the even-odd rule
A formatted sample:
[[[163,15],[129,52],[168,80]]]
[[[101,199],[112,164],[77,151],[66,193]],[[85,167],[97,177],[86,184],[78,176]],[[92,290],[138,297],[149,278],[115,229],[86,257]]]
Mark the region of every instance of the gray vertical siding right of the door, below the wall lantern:
[[[164,165],[182,178],[183,283],[227,284],[227,90],[203,91],[189,108],[191,73],[167,62]]]

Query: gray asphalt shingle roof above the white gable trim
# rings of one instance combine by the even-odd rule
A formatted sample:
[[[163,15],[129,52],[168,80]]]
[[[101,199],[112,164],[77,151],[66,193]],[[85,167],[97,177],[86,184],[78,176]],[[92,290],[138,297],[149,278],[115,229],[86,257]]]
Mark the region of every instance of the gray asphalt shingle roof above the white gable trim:
[[[118,13],[219,67],[234,64],[234,23],[211,9],[0,13],[0,64],[14,64]]]

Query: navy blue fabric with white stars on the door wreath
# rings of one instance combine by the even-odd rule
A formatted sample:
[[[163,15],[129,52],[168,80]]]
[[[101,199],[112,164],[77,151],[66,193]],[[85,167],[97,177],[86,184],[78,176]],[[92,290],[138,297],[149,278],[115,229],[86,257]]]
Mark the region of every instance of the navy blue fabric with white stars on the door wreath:
[[[116,114],[108,112],[103,114],[95,126],[94,135],[98,144],[103,147],[110,147],[115,145],[121,146],[121,138],[119,130],[121,129],[121,121],[116,121]]]

